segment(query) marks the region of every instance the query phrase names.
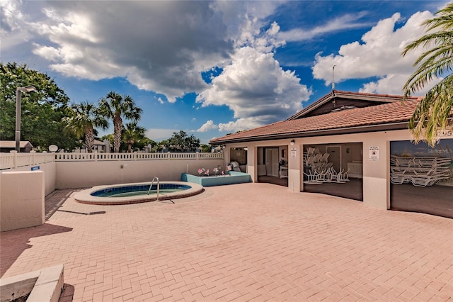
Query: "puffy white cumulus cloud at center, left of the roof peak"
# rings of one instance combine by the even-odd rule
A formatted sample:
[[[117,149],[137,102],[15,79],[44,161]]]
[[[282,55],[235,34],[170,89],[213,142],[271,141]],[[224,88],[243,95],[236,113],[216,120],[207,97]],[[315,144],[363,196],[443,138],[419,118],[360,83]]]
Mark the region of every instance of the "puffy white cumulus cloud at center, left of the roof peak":
[[[272,53],[242,47],[232,59],[212,79],[210,88],[197,96],[202,106],[226,105],[234,111],[234,118],[253,117],[253,124],[264,125],[294,114],[311,95],[294,72],[280,67]]]

